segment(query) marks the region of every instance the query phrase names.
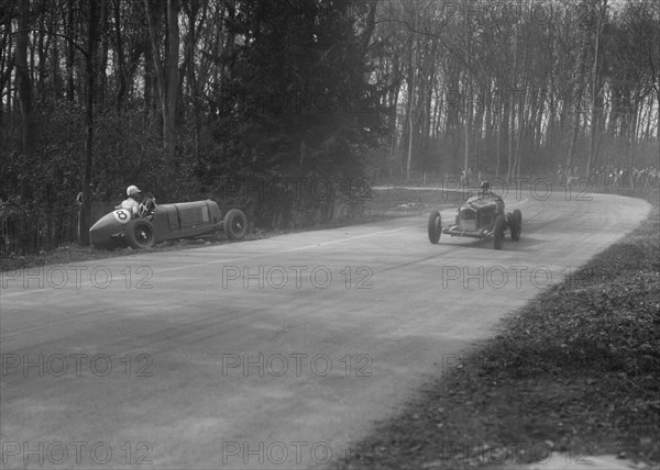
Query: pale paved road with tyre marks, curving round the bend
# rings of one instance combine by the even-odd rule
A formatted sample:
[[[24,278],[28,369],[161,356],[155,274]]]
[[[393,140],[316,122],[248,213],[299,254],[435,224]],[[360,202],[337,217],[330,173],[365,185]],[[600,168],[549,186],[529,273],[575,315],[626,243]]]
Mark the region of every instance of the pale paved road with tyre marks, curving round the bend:
[[[418,216],[6,272],[2,467],[343,458],[498,318],[649,210],[575,195],[512,194],[522,238],[501,251],[444,236],[432,246]]]

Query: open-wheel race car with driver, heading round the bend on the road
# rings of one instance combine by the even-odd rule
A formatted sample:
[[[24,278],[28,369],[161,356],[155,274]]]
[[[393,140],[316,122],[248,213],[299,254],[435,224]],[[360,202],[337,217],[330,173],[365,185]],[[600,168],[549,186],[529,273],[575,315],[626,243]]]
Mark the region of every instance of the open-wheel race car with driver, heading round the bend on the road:
[[[452,237],[488,238],[493,237],[493,247],[502,249],[502,242],[506,231],[510,232],[512,239],[518,242],[522,232],[522,213],[515,210],[504,213],[504,201],[498,194],[490,191],[487,182],[482,183],[482,192],[470,198],[457,214],[455,223],[442,227],[440,212],[433,211],[429,216],[429,240],[436,245],[440,234]]]

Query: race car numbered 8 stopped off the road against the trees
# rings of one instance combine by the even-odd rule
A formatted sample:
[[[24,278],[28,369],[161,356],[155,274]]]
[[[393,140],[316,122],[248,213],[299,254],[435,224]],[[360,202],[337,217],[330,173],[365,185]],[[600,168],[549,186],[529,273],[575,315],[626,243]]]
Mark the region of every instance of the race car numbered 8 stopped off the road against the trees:
[[[243,239],[248,220],[239,209],[221,217],[220,208],[211,200],[156,204],[146,194],[133,214],[118,209],[101,217],[89,230],[89,238],[99,248],[130,246],[135,249],[152,248],[156,243],[186,238],[223,231],[231,240]]]

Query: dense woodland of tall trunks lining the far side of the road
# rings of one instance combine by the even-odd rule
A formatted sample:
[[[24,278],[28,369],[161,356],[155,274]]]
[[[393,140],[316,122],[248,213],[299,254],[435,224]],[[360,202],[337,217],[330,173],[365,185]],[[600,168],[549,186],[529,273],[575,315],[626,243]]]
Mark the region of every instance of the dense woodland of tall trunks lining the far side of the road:
[[[464,169],[657,184],[660,2],[0,0],[0,199],[54,246],[129,184],[275,227]]]

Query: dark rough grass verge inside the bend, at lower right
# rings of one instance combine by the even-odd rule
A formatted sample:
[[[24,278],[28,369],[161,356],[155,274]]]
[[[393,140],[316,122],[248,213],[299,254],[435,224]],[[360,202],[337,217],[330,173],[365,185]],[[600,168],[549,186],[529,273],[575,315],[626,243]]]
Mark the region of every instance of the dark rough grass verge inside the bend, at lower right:
[[[381,423],[349,469],[510,468],[565,451],[660,460],[660,234],[629,236],[505,318]],[[541,466],[542,468],[542,466]]]

